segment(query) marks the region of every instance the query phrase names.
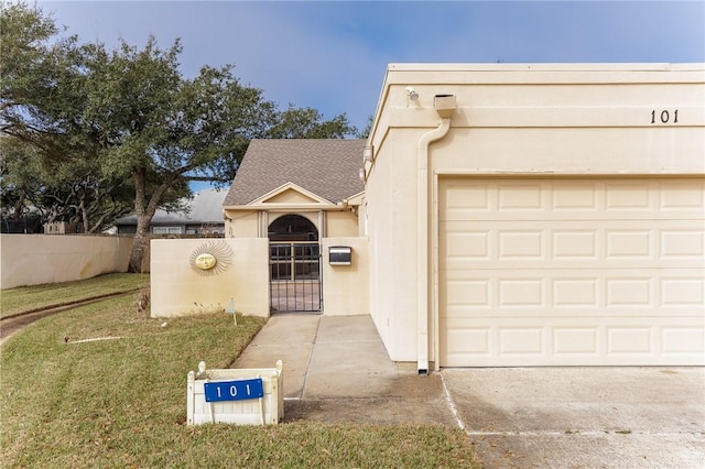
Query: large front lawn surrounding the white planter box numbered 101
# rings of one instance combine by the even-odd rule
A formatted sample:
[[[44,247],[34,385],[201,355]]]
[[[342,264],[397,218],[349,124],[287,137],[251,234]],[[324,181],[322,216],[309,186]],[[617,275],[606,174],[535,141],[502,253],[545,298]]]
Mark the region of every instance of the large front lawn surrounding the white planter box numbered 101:
[[[7,339],[0,467],[479,467],[467,435],[441,426],[187,427],[187,372],[199,360],[228,367],[264,320],[151,319],[134,302],[126,295],[82,306]],[[119,338],[79,341],[106,337]]]

